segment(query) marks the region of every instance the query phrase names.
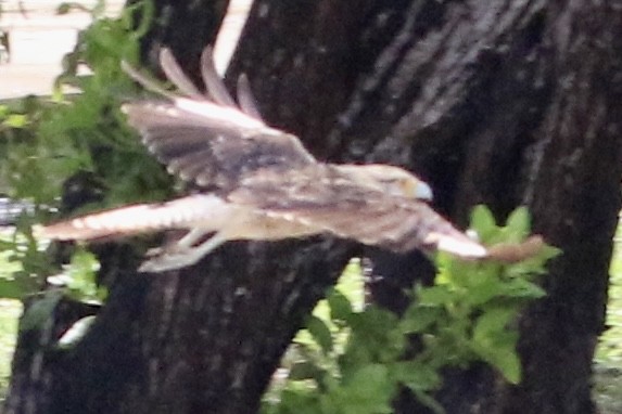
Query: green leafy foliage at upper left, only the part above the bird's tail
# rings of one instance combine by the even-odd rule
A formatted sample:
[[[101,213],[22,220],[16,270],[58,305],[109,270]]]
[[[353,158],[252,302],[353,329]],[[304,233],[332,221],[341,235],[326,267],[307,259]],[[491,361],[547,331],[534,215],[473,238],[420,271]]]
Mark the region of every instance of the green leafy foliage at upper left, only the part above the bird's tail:
[[[120,62],[137,64],[139,39],[150,23],[143,2],[142,24],[134,28],[136,8],[118,18],[94,15],[63,61],[53,99],[26,99],[3,120],[5,158],[0,182],[14,197],[54,205],[66,180],[78,171],[93,172],[105,189],[103,204],[162,198],[170,181],[126,126],[122,100],[135,91]],[[96,11],[100,13],[100,7]],[[65,96],[63,87],[77,88]],[[18,125],[16,125],[18,124]],[[167,192],[164,190],[164,192]]]

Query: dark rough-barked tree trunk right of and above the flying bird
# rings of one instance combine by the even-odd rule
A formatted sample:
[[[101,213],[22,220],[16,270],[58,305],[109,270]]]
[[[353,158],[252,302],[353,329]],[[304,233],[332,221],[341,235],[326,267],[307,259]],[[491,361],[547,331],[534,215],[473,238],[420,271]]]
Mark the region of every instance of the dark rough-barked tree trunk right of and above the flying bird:
[[[441,401],[452,413],[592,412],[591,361],[621,203],[622,3],[307,8],[259,1],[247,25],[234,73],[262,80],[255,92],[268,119],[292,128],[308,113],[329,113],[304,130],[316,154],[406,166],[461,223],[479,203],[499,219],[526,205],[534,230],[564,250],[544,282],[549,296],[522,320],[523,384],[491,394],[493,374],[474,368],[452,374]],[[274,23],[296,13],[299,24]],[[401,288],[430,272],[416,254],[368,256],[383,276],[372,286],[377,300],[396,311],[406,303]],[[420,410],[408,397],[397,406]]]

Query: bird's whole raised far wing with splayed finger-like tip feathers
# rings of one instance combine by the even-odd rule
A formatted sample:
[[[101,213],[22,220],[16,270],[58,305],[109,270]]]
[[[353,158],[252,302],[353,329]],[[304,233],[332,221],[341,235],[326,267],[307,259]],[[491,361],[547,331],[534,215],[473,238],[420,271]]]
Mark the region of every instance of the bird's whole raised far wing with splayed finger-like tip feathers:
[[[161,53],[165,74],[186,96],[165,91],[124,66],[145,88],[169,100],[123,106],[129,124],[169,172],[202,187],[230,191],[244,176],[261,169],[285,170],[316,163],[296,137],[268,127],[258,117],[244,77],[238,87],[240,108],[214,69],[211,49],[201,61],[206,94],[183,75],[170,51]]]

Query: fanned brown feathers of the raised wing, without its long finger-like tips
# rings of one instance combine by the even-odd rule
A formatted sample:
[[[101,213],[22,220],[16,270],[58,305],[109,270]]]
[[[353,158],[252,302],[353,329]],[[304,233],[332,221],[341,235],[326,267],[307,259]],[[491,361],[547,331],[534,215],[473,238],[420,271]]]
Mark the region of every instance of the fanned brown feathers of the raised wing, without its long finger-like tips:
[[[186,114],[167,103],[126,104],[128,121],[148,150],[172,173],[199,186],[234,187],[259,169],[290,169],[315,164],[300,141],[285,133],[242,130],[225,122]]]

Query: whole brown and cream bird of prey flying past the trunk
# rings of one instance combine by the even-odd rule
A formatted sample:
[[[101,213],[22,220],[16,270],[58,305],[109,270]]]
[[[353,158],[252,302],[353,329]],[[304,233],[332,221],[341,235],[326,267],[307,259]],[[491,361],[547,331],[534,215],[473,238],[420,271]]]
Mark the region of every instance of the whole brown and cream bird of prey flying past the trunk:
[[[128,122],[170,173],[199,191],[161,204],[139,204],[40,228],[52,240],[97,240],[183,229],[187,233],[148,253],[143,272],[198,262],[228,241],[278,241],[332,234],[396,253],[444,250],[482,258],[487,250],[426,202],[430,187],[388,165],[318,161],[293,134],[266,125],[247,78],[237,103],[214,68],[212,50],[201,56],[206,92],[183,74],[168,49],[161,65],[177,87],[161,88],[135,68],[125,70],[162,99],[127,103]],[[211,236],[210,238],[206,238]]]

